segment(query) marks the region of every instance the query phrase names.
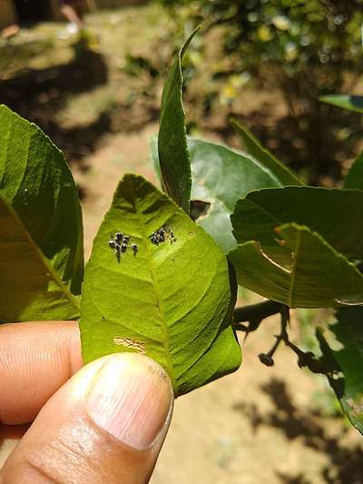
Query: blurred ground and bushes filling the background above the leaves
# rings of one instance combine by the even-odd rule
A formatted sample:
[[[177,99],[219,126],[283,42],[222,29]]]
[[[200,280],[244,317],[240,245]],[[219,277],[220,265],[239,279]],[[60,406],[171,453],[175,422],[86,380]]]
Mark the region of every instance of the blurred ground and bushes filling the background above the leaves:
[[[49,22],[0,40],[0,101],[82,162],[103,135],[157,121],[173,55],[201,24],[184,63],[188,131],[240,147],[233,116],[307,183],[340,183],[362,116],[319,96],[361,94],[363,0],[137,3],[86,15],[91,48]]]

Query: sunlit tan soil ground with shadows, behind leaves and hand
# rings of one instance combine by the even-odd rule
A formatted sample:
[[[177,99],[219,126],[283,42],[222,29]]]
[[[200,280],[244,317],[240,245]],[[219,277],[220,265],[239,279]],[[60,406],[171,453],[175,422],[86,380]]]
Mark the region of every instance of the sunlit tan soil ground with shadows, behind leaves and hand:
[[[64,25],[23,29],[10,46],[17,50],[23,43],[33,50],[6,63],[0,101],[39,123],[66,153],[82,194],[89,255],[123,173],[140,173],[156,183],[149,143],[158,130],[158,104],[153,96],[150,101],[144,96],[142,104],[135,100],[149,79],[130,80],[122,67],[130,50],[141,54],[165,30],[153,5],[90,15],[86,21],[98,36],[88,64],[75,62],[71,41],[58,38]],[[53,46],[47,49],[49,39]],[[3,45],[2,61],[8,51],[9,44]],[[90,63],[98,73],[92,82],[82,71]],[[261,94],[260,103],[267,95]],[[294,314],[295,340],[302,333],[300,321]],[[275,367],[260,364],[257,355],[269,350],[277,331],[272,317],[241,341],[240,370],[176,401],[152,484],[363,483],[362,440],[331,411],[325,380],[300,370],[285,348]]]

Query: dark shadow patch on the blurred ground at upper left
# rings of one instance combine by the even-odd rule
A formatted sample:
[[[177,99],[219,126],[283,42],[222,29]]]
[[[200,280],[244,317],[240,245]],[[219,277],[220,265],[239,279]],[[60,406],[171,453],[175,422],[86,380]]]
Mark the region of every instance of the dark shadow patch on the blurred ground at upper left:
[[[106,84],[107,79],[103,56],[76,44],[74,58],[68,64],[26,69],[0,81],[0,103],[38,124],[64,150],[68,161],[81,163],[110,129],[110,115],[101,113],[91,124],[64,129],[54,122],[55,114],[64,108],[68,97]]]

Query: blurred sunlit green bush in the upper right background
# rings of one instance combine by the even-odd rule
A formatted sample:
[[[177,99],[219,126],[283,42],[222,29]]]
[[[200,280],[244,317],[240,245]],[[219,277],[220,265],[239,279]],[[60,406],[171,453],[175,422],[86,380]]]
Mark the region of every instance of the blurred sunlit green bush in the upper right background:
[[[265,62],[280,67],[290,78],[309,70],[315,80],[316,66],[339,75],[339,70],[354,67],[359,55],[361,0],[160,1],[182,22],[204,20],[206,30],[228,25],[225,52],[240,57],[238,66],[243,69],[258,69]],[[326,79],[329,84],[336,80]]]

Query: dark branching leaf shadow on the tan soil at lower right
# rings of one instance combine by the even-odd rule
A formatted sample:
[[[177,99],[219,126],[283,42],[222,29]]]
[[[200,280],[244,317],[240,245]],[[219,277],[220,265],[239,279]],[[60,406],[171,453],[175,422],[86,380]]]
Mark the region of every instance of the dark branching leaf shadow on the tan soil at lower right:
[[[329,465],[322,469],[321,479],[329,484],[362,484],[362,448],[343,446],[337,437],[329,436],[321,424],[324,419],[321,412],[296,407],[283,380],[271,379],[261,390],[270,398],[274,410],[261,412],[253,403],[239,403],[234,407],[248,417],[254,431],[260,426],[272,427],[283,432],[288,440],[299,438],[306,447],[325,454]],[[347,431],[342,425],[341,436]],[[289,476],[278,472],[278,477],[283,484],[309,484],[302,474]]]

